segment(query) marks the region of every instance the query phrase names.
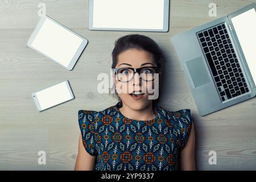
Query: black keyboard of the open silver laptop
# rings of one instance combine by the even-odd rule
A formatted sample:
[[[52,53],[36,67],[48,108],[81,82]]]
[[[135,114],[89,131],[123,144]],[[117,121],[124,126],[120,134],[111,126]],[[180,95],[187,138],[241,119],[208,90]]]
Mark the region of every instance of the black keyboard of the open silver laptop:
[[[197,33],[222,101],[249,92],[225,23]]]

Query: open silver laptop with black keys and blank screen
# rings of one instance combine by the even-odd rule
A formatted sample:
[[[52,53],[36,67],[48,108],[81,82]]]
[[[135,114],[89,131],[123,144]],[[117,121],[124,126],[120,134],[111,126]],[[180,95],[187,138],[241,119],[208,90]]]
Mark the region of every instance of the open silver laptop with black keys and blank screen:
[[[253,98],[256,4],[171,38],[200,115]]]

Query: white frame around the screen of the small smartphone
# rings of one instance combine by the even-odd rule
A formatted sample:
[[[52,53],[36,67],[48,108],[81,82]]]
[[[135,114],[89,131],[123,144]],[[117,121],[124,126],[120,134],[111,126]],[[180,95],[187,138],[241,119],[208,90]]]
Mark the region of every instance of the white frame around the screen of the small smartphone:
[[[68,90],[69,90],[69,94],[70,94],[72,97],[71,97],[70,100],[61,102],[60,104],[63,104],[63,103],[68,102],[68,101],[71,101],[71,100],[73,100],[73,99],[75,98],[75,96],[74,96],[74,94],[73,94],[73,92],[72,92],[71,86],[70,86],[70,84],[69,84],[69,81],[68,81],[68,80],[65,80],[65,81],[63,81],[63,82],[65,82],[65,84],[67,85]],[[63,82],[59,82],[59,83],[57,83],[57,84],[48,86],[47,88],[44,88],[44,89],[42,89],[42,90],[48,89],[48,88],[50,88],[50,87],[52,87],[52,86],[61,84],[61,83],[63,83]],[[32,98],[33,98],[33,100],[34,100],[34,102],[35,102],[36,109],[37,109],[39,112],[40,112],[40,111],[43,111],[43,110],[47,110],[47,109],[49,109],[49,108],[51,108],[51,107],[55,107],[55,106],[57,106],[57,105],[60,105],[60,104],[57,104],[57,105],[48,107],[48,108],[46,108],[46,109],[42,109],[41,106],[40,106],[40,104],[39,104],[38,98],[36,97],[36,93],[38,93],[38,92],[40,92],[40,91],[42,91],[42,90],[38,90],[37,92],[32,93]]]

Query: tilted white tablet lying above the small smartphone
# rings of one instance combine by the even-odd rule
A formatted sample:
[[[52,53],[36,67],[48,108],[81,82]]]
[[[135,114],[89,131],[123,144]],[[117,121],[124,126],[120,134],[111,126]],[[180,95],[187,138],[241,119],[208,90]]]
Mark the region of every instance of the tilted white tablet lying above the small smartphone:
[[[55,20],[42,16],[28,39],[27,46],[71,70],[87,43],[86,39]]]

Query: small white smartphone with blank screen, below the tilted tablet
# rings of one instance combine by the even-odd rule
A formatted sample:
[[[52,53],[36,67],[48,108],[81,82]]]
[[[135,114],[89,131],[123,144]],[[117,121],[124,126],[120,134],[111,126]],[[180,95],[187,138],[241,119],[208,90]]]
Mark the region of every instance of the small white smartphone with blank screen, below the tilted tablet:
[[[32,93],[32,97],[38,111],[46,110],[75,98],[68,80]]]

